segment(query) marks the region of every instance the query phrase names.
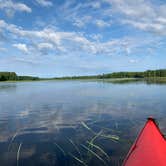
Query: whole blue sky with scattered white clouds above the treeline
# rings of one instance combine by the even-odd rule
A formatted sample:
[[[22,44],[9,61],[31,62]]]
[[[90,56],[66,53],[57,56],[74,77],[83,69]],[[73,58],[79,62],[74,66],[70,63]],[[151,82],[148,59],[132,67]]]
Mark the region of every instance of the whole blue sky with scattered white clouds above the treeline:
[[[0,0],[0,71],[41,77],[166,68],[165,0]]]

